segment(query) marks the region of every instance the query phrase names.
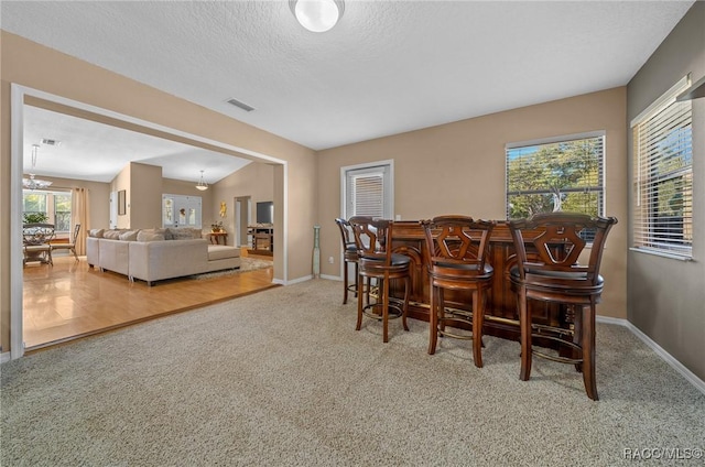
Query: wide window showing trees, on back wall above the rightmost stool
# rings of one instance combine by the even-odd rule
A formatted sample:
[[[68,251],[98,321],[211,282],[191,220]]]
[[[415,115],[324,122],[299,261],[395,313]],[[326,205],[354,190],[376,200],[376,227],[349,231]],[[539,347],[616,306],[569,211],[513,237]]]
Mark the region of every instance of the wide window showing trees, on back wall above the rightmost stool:
[[[507,145],[507,218],[564,210],[601,216],[604,132]]]

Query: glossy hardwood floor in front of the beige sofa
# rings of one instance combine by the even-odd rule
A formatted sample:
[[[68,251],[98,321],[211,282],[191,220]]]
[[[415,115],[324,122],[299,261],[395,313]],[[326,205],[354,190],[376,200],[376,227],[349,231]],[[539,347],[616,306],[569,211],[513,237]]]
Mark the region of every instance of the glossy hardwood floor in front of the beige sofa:
[[[265,268],[161,281],[150,287],[88,268],[85,257],[76,262],[73,256],[55,256],[53,267],[28,263],[23,275],[28,351],[278,286],[272,284],[273,269]]]

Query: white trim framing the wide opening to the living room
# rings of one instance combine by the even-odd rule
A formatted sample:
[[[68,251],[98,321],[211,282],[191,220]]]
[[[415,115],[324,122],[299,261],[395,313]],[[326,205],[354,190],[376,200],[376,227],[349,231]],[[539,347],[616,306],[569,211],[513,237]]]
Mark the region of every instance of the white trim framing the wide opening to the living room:
[[[267,161],[270,163],[280,164],[283,166],[283,280],[273,280],[274,283],[286,283],[289,275],[289,257],[286,240],[289,238],[289,165],[288,162],[274,156],[263,154],[261,152],[251,151],[245,148],[235,146],[220,141],[210,140],[208,138],[198,137],[196,134],[187,133],[184,131],[175,130],[173,128],[163,127],[158,123],[153,123],[147,120],[141,120],[134,117],[126,116],[115,112],[112,110],[104,109],[100,107],[91,106],[89,104],[79,102],[77,100],[68,99],[65,97],[56,96],[50,93],[45,93],[39,89],[33,89],[17,83],[10,84],[11,100],[10,100],[10,139],[12,141],[10,150],[10,211],[22,213],[22,160],[24,140],[24,97],[32,96],[40,99],[48,100],[56,104],[62,104],[68,107],[74,107],[80,110],[86,110],[93,113],[97,113],[105,117],[115,118],[129,123],[134,123],[144,128],[159,130],[169,134],[178,135],[189,139],[192,141],[206,143],[215,148],[220,148],[227,151],[239,152],[245,155],[256,158],[258,160]],[[21,226],[17,221],[10,222],[10,358],[15,359],[24,355],[24,341],[23,341],[23,312],[22,312],[22,245],[20,243]],[[305,280],[305,278],[304,278]]]

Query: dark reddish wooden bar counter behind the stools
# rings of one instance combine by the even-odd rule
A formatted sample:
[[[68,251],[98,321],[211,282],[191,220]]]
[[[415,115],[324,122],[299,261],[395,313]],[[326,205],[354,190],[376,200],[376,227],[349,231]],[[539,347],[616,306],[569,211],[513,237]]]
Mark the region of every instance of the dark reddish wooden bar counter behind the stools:
[[[411,298],[409,316],[429,321],[430,286],[426,268],[426,243],[423,227],[417,221],[395,221],[392,230],[392,249],[411,258]],[[487,297],[484,334],[519,340],[517,297],[510,289],[509,271],[517,263],[514,246],[506,221],[498,221],[492,230],[489,262],[495,269],[492,287]],[[392,295],[403,296],[401,284],[392,284]],[[446,291],[446,306],[471,309],[471,296],[464,291]],[[567,309],[557,304],[530,302],[533,323],[539,326],[565,329],[572,333],[573,319]],[[543,339],[541,339],[543,340]],[[555,347],[550,341],[539,345]]]

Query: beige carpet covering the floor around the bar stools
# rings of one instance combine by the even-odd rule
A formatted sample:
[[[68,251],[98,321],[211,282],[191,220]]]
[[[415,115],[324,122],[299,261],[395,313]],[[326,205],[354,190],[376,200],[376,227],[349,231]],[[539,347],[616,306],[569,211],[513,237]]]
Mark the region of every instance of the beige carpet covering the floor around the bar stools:
[[[426,323],[355,332],[340,300],[308,281],[4,363],[1,465],[616,466],[705,447],[705,395],[623,327],[598,325],[593,402],[570,366],[520,381],[517,343],[486,337],[477,369],[467,341],[429,356]]]

